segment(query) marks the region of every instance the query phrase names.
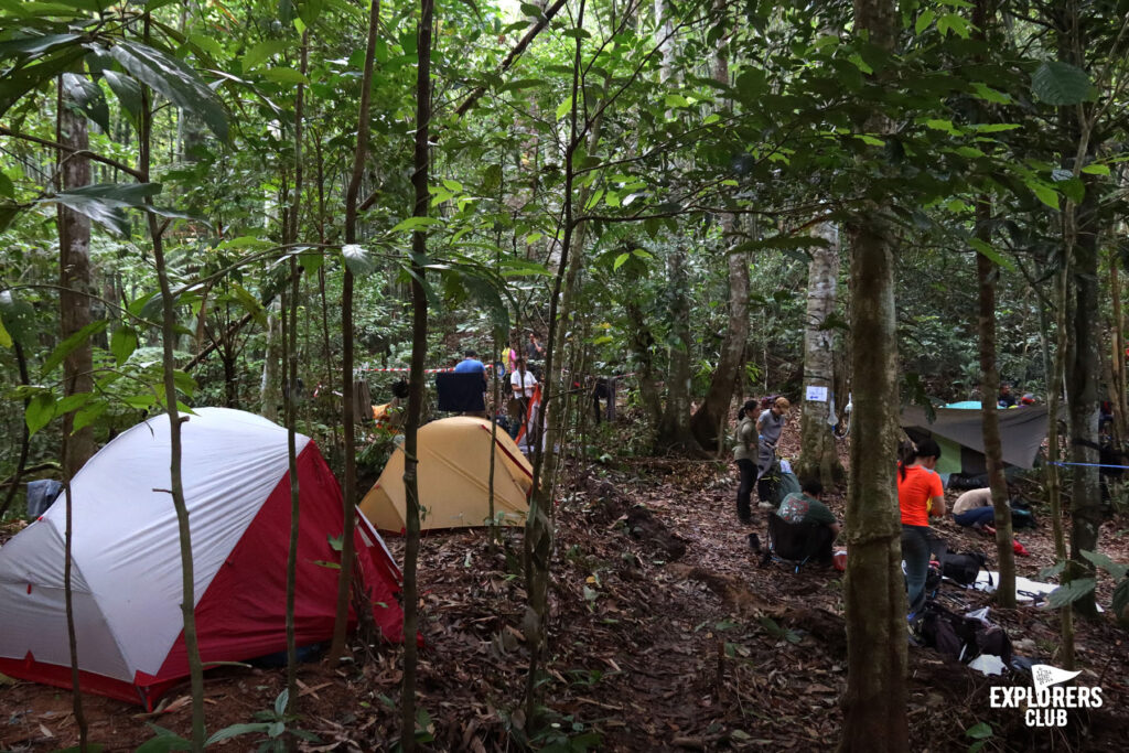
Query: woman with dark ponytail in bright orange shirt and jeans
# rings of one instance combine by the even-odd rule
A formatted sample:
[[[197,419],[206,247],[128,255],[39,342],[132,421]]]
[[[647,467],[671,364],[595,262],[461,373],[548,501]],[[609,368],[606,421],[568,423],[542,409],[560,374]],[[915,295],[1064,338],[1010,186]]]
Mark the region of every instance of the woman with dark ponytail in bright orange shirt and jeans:
[[[940,447],[924,439],[902,454],[898,463],[898,506],[902,511],[902,559],[910,615],[925,604],[925,579],[929,575],[929,517],[945,515],[945,488],[934,470]]]

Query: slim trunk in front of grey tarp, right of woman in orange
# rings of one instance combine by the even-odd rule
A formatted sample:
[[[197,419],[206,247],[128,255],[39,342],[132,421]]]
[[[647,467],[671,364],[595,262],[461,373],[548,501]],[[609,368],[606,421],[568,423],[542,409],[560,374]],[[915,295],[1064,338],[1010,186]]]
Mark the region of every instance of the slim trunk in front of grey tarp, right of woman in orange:
[[[977,200],[977,238],[991,240],[991,200]],[[1012,549],[1012,508],[1007,505],[1007,480],[1004,478],[1004,446],[999,435],[999,415],[996,395],[999,394],[999,366],[996,362],[996,280],[999,270],[996,263],[977,254],[977,283],[980,295],[980,315],[977,327],[980,332],[980,400],[984,461],[988,465],[988,483],[991,487],[992,507],[996,510],[996,553],[999,567],[999,584],[996,587],[996,603],[1006,608],[1015,607],[1015,552]]]

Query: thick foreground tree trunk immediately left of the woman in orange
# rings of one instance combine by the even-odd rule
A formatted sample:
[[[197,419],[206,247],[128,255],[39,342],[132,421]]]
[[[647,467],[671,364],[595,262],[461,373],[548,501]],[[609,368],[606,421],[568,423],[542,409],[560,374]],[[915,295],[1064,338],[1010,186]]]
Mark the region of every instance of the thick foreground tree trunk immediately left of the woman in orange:
[[[892,50],[900,27],[891,0],[855,0],[855,30]],[[865,125],[889,133],[882,113]],[[885,203],[848,225],[851,240],[851,374],[855,410],[847,488],[847,692],[840,751],[909,750],[905,685],[905,578],[894,484],[898,333],[894,262]]]

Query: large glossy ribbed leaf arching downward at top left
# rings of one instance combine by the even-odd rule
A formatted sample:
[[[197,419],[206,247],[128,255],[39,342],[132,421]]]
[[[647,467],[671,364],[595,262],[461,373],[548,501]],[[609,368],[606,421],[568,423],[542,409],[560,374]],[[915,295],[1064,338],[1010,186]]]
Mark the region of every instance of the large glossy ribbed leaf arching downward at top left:
[[[221,141],[227,141],[227,115],[224,106],[195,71],[180,60],[135,42],[119,42],[111,47],[122,68],[155,91],[204,122]]]

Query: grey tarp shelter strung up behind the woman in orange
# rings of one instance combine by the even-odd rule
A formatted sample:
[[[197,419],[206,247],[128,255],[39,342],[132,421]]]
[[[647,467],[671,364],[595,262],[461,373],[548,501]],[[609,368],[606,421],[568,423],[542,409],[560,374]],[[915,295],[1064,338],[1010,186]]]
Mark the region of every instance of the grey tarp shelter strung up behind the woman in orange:
[[[902,429],[913,441],[933,436],[940,446],[937,473],[980,475],[988,472],[984,461],[983,422],[980,403],[955,403],[960,408],[936,409],[933,422],[925,409],[912,406],[902,411]],[[1021,469],[1034,466],[1039,447],[1047,437],[1047,408],[1031,405],[999,410],[999,435],[1005,465]]]

